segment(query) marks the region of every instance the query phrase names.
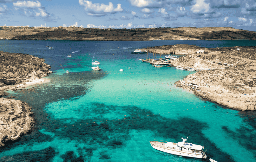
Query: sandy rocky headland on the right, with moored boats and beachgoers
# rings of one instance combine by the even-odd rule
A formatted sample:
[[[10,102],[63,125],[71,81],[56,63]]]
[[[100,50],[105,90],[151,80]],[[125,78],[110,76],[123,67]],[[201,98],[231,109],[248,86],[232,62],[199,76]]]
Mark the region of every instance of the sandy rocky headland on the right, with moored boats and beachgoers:
[[[185,55],[172,60],[173,66],[202,70],[177,81],[176,86],[193,90],[195,94],[229,108],[256,110],[256,46],[169,45],[152,48],[171,51],[165,54]],[[204,53],[197,53],[199,50]]]

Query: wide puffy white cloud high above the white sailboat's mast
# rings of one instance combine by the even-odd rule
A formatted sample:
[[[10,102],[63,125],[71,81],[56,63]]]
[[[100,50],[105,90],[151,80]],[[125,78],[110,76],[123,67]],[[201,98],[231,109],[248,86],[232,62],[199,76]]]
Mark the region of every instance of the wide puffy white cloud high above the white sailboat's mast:
[[[123,12],[124,9],[121,7],[121,4],[117,4],[117,7],[114,8],[112,2],[109,2],[108,5],[92,3],[91,1],[79,0],[79,4],[84,7],[84,10],[87,12],[87,15],[90,16],[105,16],[107,14],[115,14],[118,12]]]

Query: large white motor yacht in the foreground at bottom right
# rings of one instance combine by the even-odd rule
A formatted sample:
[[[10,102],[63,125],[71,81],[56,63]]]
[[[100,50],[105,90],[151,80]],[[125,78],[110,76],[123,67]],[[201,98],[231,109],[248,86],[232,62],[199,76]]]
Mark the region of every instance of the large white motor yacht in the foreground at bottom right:
[[[163,151],[169,154],[186,156],[186,157],[194,157],[194,158],[204,158],[204,159],[207,157],[207,155],[205,154],[207,150],[202,151],[204,146],[187,143],[186,142],[187,140],[183,138],[182,140],[183,140],[182,142],[178,142],[178,143],[154,140],[154,141],[150,141],[150,144],[154,149],[157,149],[159,151]]]

